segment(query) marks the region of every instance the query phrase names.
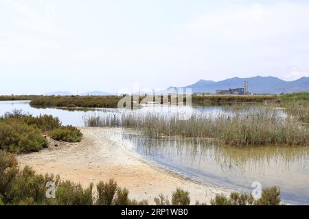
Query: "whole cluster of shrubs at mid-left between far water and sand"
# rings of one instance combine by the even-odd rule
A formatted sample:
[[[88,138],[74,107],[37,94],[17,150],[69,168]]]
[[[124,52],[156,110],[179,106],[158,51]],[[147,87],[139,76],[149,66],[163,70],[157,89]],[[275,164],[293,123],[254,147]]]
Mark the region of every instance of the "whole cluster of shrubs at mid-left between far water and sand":
[[[0,149],[12,153],[29,153],[47,147],[42,132],[50,132],[55,140],[80,142],[82,133],[75,127],[62,127],[54,116],[32,116],[19,110],[0,117]]]

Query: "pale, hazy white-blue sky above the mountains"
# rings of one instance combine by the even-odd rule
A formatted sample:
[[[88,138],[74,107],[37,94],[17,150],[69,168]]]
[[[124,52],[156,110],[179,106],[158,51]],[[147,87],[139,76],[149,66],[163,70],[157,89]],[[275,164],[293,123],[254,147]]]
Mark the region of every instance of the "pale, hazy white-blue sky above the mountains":
[[[0,0],[0,94],[309,77],[309,1]]]

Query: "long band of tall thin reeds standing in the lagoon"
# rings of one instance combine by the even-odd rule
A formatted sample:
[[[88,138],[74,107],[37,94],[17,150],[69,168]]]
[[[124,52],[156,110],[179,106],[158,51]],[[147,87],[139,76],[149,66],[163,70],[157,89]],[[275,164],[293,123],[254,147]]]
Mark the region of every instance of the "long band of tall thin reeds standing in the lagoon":
[[[283,118],[275,110],[253,110],[236,114],[194,114],[188,120],[178,116],[158,114],[122,114],[100,117],[89,116],[85,125],[133,128],[152,138],[181,136],[214,138],[227,145],[309,145],[309,128],[290,116]]]

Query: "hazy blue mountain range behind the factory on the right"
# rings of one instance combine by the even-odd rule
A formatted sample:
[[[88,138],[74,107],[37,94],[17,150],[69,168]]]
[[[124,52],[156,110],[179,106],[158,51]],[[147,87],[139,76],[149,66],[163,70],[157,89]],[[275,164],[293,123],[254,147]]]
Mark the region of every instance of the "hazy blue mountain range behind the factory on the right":
[[[277,77],[249,77],[239,78],[233,77],[223,81],[205,81],[200,80],[190,86],[183,88],[192,88],[192,92],[207,92],[215,93],[216,90],[228,88],[243,88],[244,81],[249,82],[249,91],[253,94],[279,94],[282,92],[308,92],[309,91],[309,77],[301,77],[296,81],[284,81]],[[172,90],[173,87],[168,88]]]

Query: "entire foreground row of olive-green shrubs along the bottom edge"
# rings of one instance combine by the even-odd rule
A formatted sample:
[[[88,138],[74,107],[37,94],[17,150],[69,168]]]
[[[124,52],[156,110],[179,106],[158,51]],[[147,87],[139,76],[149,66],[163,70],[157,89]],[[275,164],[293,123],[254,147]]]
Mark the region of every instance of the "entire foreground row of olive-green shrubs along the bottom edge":
[[[38,175],[32,168],[19,168],[14,155],[0,151],[0,205],[148,205],[148,201],[136,201],[129,198],[129,191],[120,188],[117,183],[100,181],[91,183],[87,188],[80,183],[63,181],[59,176]],[[47,183],[54,183],[53,192],[47,192]],[[50,196],[47,197],[46,194]],[[190,205],[190,193],[177,188],[168,196],[160,194],[154,199],[157,205]],[[279,205],[278,188],[264,190],[262,197],[254,200],[250,194],[232,193],[231,196],[216,196],[211,205]],[[196,205],[203,203],[196,202]]]

